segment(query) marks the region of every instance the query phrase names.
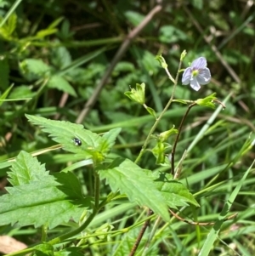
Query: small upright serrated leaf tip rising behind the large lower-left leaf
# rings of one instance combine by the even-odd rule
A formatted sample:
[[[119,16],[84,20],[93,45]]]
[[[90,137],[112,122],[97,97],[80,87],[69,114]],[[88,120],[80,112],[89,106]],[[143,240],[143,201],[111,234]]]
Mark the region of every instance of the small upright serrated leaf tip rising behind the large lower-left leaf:
[[[44,176],[48,176],[45,165],[41,165],[36,158],[31,158],[26,151],[21,151],[12,164],[11,172],[8,172],[8,181],[11,185],[25,185],[42,180]]]

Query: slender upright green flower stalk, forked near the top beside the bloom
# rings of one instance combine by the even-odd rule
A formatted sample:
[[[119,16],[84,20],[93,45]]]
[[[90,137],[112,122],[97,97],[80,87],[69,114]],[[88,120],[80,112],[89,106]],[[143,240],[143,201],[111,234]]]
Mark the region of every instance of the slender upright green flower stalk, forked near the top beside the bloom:
[[[150,128],[150,132],[148,134],[148,136],[146,137],[145,141],[144,141],[144,145],[142,146],[142,149],[141,151],[139,152],[139,156],[137,156],[137,158],[135,159],[135,163],[138,163],[141,159],[141,157],[143,156],[144,154],[144,151],[149,143],[149,140],[150,140],[150,136],[154,133],[158,123],[161,121],[161,118],[163,117],[163,115],[165,114],[165,112],[167,111],[167,109],[169,108],[169,106],[171,105],[171,103],[173,102],[173,96],[174,96],[174,93],[175,93],[175,88],[177,86],[177,82],[178,82],[178,75],[179,75],[179,71],[181,69],[181,65],[182,65],[182,60],[179,61],[179,64],[178,64],[178,71],[177,71],[177,74],[176,74],[176,77],[175,77],[175,80],[173,79],[173,77],[171,76],[170,72],[167,70],[167,68],[165,68],[165,71],[167,72],[167,76],[169,77],[169,79],[171,81],[173,81],[173,92],[172,92],[172,95],[171,95],[171,98],[170,100],[168,100],[167,102],[167,105],[164,107],[163,111],[161,111],[161,114],[159,115],[159,117],[156,118],[156,122],[153,124],[152,128]]]

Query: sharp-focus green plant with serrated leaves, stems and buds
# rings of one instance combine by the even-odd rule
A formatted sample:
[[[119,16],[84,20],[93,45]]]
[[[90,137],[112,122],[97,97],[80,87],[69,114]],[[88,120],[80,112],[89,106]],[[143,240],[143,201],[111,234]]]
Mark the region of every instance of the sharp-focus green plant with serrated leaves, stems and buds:
[[[157,59],[163,60],[162,57],[157,57]],[[183,59],[184,54],[180,61]],[[167,69],[167,65],[163,65],[163,67]],[[176,79],[178,79],[178,75]],[[173,82],[176,86],[177,80],[174,79]],[[147,109],[148,107],[144,103],[144,94],[144,83],[137,84],[137,90],[131,89],[131,92],[126,93],[127,97],[144,105],[144,108]],[[46,248],[44,244],[44,246],[30,249],[35,252],[45,252],[45,250],[53,251],[54,247],[51,246],[65,242],[71,236],[77,236],[82,230],[86,230],[99,211],[107,204],[116,202],[118,198],[127,196],[130,202],[150,208],[151,213],[159,215],[166,222],[170,221],[167,208],[178,209],[179,207],[188,207],[189,204],[199,207],[195,197],[184,184],[177,180],[180,167],[174,167],[174,154],[184,118],[187,117],[190,108],[194,105],[214,107],[213,102],[215,101],[216,97],[212,94],[205,99],[191,102],[178,130],[172,128],[158,136],[154,135],[156,145],[151,152],[156,156],[156,164],[168,166],[171,169],[171,174],[140,168],[138,162],[144,151],[147,150],[148,141],[154,133],[156,125],[167,111],[167,107],[173,102],[173,97],[170,98],[160,117],[156,117],[156,114],[152,115],[156,117],[156,122],[150,129],[144,146],[134,162],[120,156],[113,159],[109,157],[121,128],[113,128],[100,135],[83,128],[80,124],[26,115],[32,124],[40,126],[42,132],[48,133],[55,142],[61,145],[63,150],[75,154],[83,161],[90,160],[85,162],[83,167],[89,165],[93,170],[93,194],[82,195],[81,185],[71,171],[64,169],[59,173],[50,174],[46,171],[44,164],[41,165],[37,161],[37,158],[21,151],[13,162],[11,171],[8,172],[8,180],[13,186],[7,188],[7,195],[0,197],[0,225],[16,223],[20,226],[34,225],[35,227],[44,226],[53,229],[58,225],[69,223],[70,220],[79,223],[76,229],[53,240],[48,241],[45,236],[44,242],[47,242],[49,247]],[[156,112],[154,111],[154,113]],[[169,154],[171,156],[169,162],[165,152],[172,146],[167,144],[167,139],[174,134],[177,136],[172,153]],[[105,198],[100,195],[100,183],[104,181],[111,187],[111,192]],[[82,241],[86,240],[88,240],[86,235],[82,236]]]

